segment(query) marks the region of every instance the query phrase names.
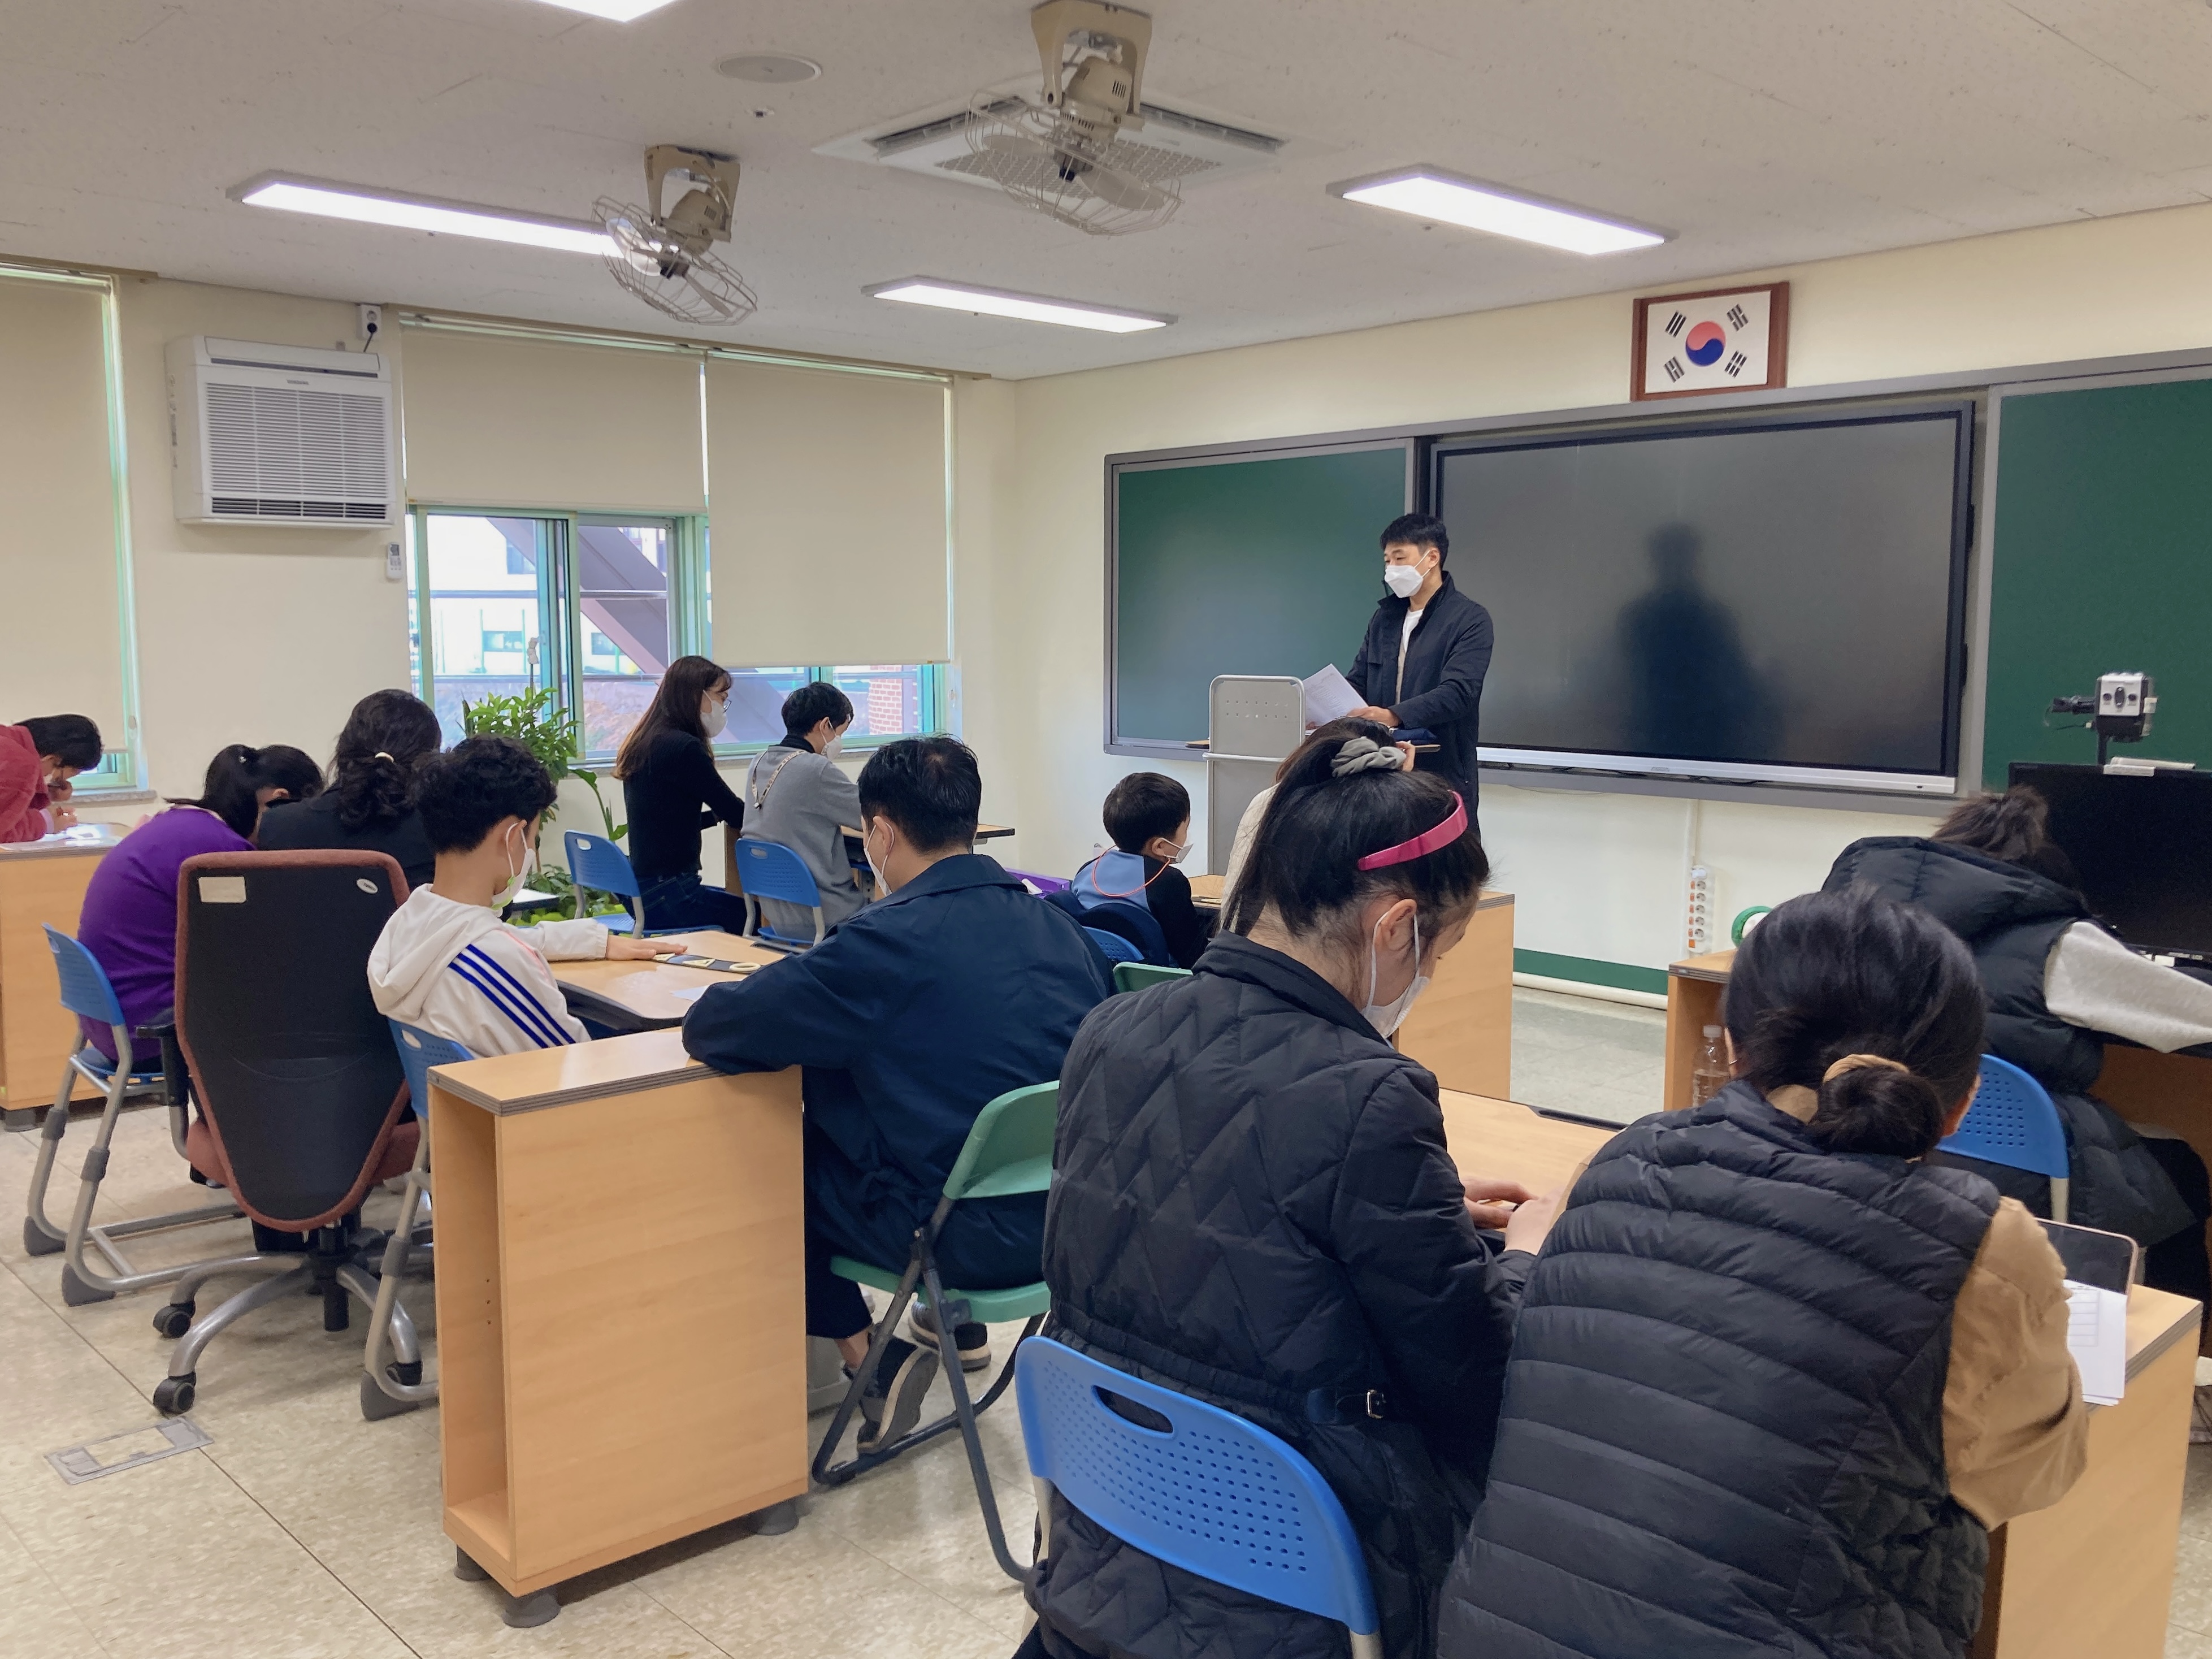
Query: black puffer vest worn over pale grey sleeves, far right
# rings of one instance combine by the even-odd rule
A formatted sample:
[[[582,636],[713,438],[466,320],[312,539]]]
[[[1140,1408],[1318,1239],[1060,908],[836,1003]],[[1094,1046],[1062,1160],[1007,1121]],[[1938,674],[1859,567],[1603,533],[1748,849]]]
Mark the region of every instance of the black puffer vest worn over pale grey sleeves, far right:
[[[2073,1150],[2066,1219],[2126,1232],[2143,1245],[2197,1225],[2141,1137],[2088,1093],[2104,1068],[2104,1042],[2044,1002],[2051,947],[2068,927],[2090,920],[2081,894],[2024,865],[1920,836],[1854,841],[1827,872],[1823,891],[1854,883],[1918,905],[1966,940],[1989,993],[1989,1051],[2048,1088],[2066,1121]],[[1949,1152],[1936,1161],[1969,1168],[2037,1214],[2051,1214],[2051,1183],[2039,1175]]]

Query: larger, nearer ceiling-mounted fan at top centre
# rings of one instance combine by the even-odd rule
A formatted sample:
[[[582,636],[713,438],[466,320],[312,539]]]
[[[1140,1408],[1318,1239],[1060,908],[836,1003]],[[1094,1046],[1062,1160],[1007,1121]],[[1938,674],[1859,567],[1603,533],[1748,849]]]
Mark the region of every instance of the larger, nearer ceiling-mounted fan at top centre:
[[[1124,144],[1144,126],[1144,53],[1152,20],[1106,0],[1046,0],[1029,13],[1044,64],[1037,102],[978,93],[969,150],[1000,190],[1037,212],[1121,237],[1175,217],[1183,197],[1172,173],[1146,164],[1152,150]]]

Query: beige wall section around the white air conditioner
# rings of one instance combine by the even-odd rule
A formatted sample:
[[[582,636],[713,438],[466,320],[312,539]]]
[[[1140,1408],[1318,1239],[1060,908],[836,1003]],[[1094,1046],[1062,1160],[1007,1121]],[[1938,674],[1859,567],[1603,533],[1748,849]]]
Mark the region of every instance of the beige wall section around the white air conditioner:
[[[117,312],[153,787],[197,794],[223,743],[292,743],[327,761],[356,699],[407,686],[407,584],[385,580],[385,542],[403,531],[179,524],[161,354],[184,334],[354,347],[354,307],[124,279]]]

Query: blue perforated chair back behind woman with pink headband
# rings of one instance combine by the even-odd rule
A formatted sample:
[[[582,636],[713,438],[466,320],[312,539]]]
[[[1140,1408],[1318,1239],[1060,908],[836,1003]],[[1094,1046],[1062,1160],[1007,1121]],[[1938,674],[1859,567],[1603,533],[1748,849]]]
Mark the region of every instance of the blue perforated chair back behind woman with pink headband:
[[[1232,1590],[1336,1619],[1352,1632],[1354,1659],[1383,1659],[1360,1542],[1329,1482],[1294,1447],[1048,1336],[1022,1343],[1013,1363],[1042,1513],[1051,1513],[1048,1489],[1057,1486],[1124,1544]],[[1168,1427],[1130,1422],[1106,1394]]]

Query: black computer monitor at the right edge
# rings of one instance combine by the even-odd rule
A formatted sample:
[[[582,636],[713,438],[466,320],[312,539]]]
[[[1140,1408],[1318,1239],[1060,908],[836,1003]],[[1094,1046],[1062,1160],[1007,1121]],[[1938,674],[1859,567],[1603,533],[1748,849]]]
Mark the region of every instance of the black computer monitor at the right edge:
[[[2013,761],[2097,916],[2139,951],[2212,956],[2212,772],[2112,776]]]

